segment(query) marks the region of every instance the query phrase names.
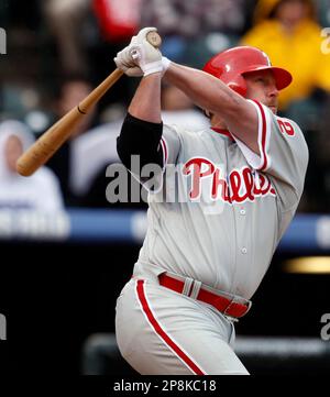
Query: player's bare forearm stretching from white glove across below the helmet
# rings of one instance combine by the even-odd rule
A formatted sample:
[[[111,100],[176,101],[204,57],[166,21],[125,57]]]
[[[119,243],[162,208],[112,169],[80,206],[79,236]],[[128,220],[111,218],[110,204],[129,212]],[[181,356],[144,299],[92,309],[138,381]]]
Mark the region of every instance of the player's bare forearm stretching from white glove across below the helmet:
[[[221,80],[187,66],[170,63],[164,78],[182,89],[198,107],[213,113],[234,112],[240,100]]]

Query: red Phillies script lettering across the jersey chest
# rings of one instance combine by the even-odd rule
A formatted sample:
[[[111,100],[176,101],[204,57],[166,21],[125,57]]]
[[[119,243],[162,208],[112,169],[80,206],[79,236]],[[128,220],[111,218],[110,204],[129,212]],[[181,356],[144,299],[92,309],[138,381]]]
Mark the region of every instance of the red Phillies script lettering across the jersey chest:
[[[191,189],[189,197],[191,200],[199,200],[205,180],[211,178],[208,184],[210,198],[212,200],[223,200],[224,202],[254,201],[256,197],[267,195],[276,196],[270,178],[266,175],[255,173],[250,167],[244,166],[233,169],[228,176],[221,167],[217,167],[208,158],[193,157],[185,163],[183,174],[191,176]]]

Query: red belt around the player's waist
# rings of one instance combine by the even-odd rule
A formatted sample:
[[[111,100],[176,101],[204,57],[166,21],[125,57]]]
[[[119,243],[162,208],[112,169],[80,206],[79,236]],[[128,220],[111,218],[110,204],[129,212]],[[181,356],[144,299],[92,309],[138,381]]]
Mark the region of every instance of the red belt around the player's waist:
[[[185,286],[184,282],[176,279],[174,277],[170,277],[166,273],[162,273],[158,276],[158,279],[160,279],[160,284],[163,287],[166,287],[176,293],[183,294],[184,286]],[[190,295],[191,289],[193,289],[193,286],[187,296]],[[223,295],[221,296],[221,295],[211,293],[211,291],[205,289],[204,287],[200,287],[196,299],[200,300],[205,304],[209,304],[209,305],[213,306],[217,310],[221,311],[226,316],[230,316],[230,317],[234,317],[234,318],[243,317],[251,307],[250,300],[246,300],[246,304],[239,304],[239,302],[234,301],[234,297],[232,299],[230,299]]]

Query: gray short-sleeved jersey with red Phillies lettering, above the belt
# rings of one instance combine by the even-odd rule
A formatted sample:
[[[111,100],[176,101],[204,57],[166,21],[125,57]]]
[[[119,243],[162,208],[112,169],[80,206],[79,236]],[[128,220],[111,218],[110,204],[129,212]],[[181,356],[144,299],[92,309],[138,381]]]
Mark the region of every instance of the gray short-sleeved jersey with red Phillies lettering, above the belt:
[[[164,128],[167,169],[148,197],[135,274],[156,267],[252,297],[298,206],[308,148],[294,121],[250,102],[260,156],[234,131]]]

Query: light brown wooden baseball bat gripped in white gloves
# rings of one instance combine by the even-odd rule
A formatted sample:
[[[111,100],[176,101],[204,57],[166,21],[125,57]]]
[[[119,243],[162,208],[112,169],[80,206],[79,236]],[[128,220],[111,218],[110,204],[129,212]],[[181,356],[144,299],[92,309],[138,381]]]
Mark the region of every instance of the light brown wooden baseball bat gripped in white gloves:
[[[162,38],[156,32],[146,35],[147,41],[160,47]],[[95,88],[77,107],[67,112],[53,124],[16,162],[16,170],[22,176],[32,175],[44,165],[69,137],[81,118],[100,100],[110,87],[123,75],[120,69],[113,70],[97,88]]]

